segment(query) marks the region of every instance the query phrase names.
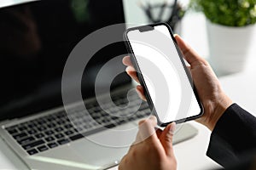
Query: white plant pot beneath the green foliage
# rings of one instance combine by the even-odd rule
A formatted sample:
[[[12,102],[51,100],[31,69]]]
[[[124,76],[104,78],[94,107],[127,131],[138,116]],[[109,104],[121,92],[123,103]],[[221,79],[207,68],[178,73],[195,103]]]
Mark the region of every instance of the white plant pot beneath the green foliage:
[[[231,27],[207,20],[210,63],[219,76],[242,71],[251,47],[255,25]]]

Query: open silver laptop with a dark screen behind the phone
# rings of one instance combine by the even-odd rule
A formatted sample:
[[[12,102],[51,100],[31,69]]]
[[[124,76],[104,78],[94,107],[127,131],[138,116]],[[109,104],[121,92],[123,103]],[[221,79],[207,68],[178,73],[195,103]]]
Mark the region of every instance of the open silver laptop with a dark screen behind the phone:
[[[119,116],[122,110],[113,110],[111,105],[108,109],[113,114],[108,114],[96,100],[96,75],[113,57],[125,56],[124,42],[109,44],[90,59],[81,81],[84,101],[70,102],[68,116],[61,98],[61,77],[69,54],[84,37],[104,26],[125,23],[122,1],[22,3],[0,8],[0,20],[0,135],[9,159],[19,162],[22,169],[106,169],[118,165],[136,137],[137,122],[150,115],[147,103],[136,93],[130,94],[126,116]],[[125,29],[119,28],[113,36],[122,38]],[[127,92],[134,85],[121,59],[108,66],[107,73],[111,77],[113,70],[120,68],[124,72],[114,78],[111,98],[115,105],[124,107]],[[102,87],[107,82],[108,77],[102,78]],[[104,95],[102,92],[100,98]],[[133,107],[139,109],[134,112]],[[174,143],[196,133],[195,127],[185,124],[175,134]]]

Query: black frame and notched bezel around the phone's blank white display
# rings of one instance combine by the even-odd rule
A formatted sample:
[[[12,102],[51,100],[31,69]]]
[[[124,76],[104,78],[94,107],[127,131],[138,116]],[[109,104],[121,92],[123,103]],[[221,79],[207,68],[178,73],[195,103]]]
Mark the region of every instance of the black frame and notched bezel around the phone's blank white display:
[[[175,37],[173,36],[173,33],[172,33],[172,28],[167,25],[166,23],[156,23],[156,24],[150,24],[150,25],[145,25],[145,26],[136,26],[136,27],[131,27],[131,28],[128,28],[125,33],[124,33],[124,39],[125,39],[125,46],[128,50],[128,53],[131,54],[131,62],[132,64],[134,65],[135,67],[135,70],[137,71],[137,77],[138,77],[138,80],[139,82],[141,82],[141,85],[143,86],[144,90],[145,90],[145,97],[147,99],[147,102],[148,102],[148,105],[149,105],[149,108],[150,108],[150,111],[152,111],[152,114],[154,116],[156,116],[157,118],[157,123],[160,127],[166,127],[168,124],[170,124],[171,122],[161,122],[160,121],[160,118],[159,116],[157,115],[157,112],[155,111],[154,109],[154,103],[150,97],[150,94],[148,92],[148,88],[146,86],[146,83],[144,81],[144,78],[143,78],[143,75],[140,71],[140,68],[139,68],[139,65],[137,64],[137,59],[136,59],[136,56],[131,48],[131,43],[129,42],[129,38],[127,36],[128,32],[129,31],[140,31],[140,32],[143,32],[143,31],[152,31],[154,30],[154,26],[166,26],[171,37],[172,37],[172,41],[174,42],[174,45],[175,45],[175,48],[177,49],[177,54],[179,56],[179,59],[181,60],[182,62],[182,65],[183,65],[183,69],[185,70],[186,72],[186,75],[187,77],[189,78],[189,82],[190,82],[190,86],[191,88],[193,89],[193,92],[195,94],[195,98],[197,100],[197,103],[198,105],[200,106],[200,113],[198,115],[195,115],[195,116],[189,116],[189,117],[186,117],[186,118],[183,118],[183,119],[179,119],[179,120],[176,120],[176,121],[173,121],[173,122],[176,122],[176,123],[182,123],[182,122],[188,122],[188,121],[192,121],[192,120],[195,120],[199,117],[201,117],[203,114],[204,114],[204,108],[203,108],[203,105],[201,104],[201,101],[200,101],[200,98],[199,98],[199,95],[197,93],[197,90],[195,88],[195,84],[193,82],[193,79],[189,73],[189,70],[187,68],[187,66],[185,65],[185,62],[183,60],[183,54],[182,52],[180,51],[178,45],[177,45],[177,41],[175,39]]]

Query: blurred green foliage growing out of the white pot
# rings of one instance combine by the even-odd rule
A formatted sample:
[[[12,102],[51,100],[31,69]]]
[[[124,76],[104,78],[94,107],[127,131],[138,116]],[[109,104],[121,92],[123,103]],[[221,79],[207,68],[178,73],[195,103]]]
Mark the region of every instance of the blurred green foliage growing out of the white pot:
[[[203,12],[208,20],[219,25],[256,23],[256,0],[190,0],[189,8]]]

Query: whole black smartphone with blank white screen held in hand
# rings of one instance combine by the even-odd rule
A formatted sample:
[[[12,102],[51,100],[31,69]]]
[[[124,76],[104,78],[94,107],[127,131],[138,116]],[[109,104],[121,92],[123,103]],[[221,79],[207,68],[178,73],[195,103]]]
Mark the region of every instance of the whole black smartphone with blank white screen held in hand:
[[[202,116],[201,101],[171,27],[166,23],[132,27],[124,37],[158,125]]]

